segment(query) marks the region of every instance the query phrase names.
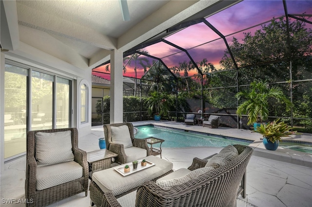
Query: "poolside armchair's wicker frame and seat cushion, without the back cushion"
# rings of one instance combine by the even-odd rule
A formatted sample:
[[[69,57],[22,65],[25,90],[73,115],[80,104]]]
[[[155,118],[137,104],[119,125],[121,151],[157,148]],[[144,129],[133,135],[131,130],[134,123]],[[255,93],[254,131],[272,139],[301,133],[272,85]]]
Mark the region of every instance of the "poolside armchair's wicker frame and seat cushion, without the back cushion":
[[[130,138],[132,140],[132,147],[125,149],[123,144],[120,143],[114,143],[112,139],[112,130],[111,127],[120,127],[126,125],[129,128],[130,132]],[[134,137],[134,127],[132,123],[112,123],[112,124],[105,124],[103,125],[104,128],[104,137],[106,142],[106,149],[109,151],[118,154],[116,158],[116,162],[118,163],[127,163],[134,160],[137,160],[139,158],[143,158],[146,156],[151,155],[150,148],[147,145],[146,139],[138,139]],[[140,149],[137,149],[140,148]],[[142,149],[146,151],[142,151]],[[129,152],[131,151],[131,154]],[[126,152],[127,153],[126,153]]]

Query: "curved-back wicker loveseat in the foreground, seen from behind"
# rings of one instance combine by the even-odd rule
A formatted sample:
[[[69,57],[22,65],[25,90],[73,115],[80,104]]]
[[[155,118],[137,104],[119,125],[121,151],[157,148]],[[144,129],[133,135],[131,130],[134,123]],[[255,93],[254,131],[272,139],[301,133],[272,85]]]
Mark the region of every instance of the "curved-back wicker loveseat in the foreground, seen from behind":
[[[219,168],[174,185],[169,189],[164,189],[157,184],[159,180],[179,179],[186,173],[196,170],[198,172],[198,170],[207,168],[207,158],[195,157],[193,164],[188,169],[179,169],[156,182],[145,182],[138,188],[137,192],[134,191],[118,199],[111,193],[106,193],[106,201],[103,201],[102,207],[120,207],[123,205],[129,207],[134,205],[136,207],[233,207],[239,194],[245,197],[246,168],[253,153],[253,149],[248,146],[234,145],[234,147],[237,149],[238,155]]]

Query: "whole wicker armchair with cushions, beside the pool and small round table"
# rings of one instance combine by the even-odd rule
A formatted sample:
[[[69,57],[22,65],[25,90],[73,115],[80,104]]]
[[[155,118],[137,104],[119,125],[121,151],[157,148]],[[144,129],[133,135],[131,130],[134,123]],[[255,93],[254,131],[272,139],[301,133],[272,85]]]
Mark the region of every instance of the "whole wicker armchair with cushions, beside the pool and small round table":
[[[123,128],[121,129],[120,127]],[[118,154],[116,162],[122,164],[128,163],[151,154],[147,146],[147,140],[134,137],[132,123],[105,124],[103,128],[106,149]],[[115,132],[117,131],[117,133],[114,133],[114,130]],[[116,140],[114,134],[117,136],[118,140]]]

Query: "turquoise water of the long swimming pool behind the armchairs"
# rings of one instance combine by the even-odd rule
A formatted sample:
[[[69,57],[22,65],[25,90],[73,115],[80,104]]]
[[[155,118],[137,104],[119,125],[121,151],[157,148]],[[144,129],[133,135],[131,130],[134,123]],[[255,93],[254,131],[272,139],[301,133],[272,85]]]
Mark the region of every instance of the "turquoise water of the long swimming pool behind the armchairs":
[[[155,137],[165,141],[161,147],[226,147],[229,144],[249,145],[252,141],[239,141],[228,138],[213,137],[169,128],[138,126],[136,138]],[[160,144],[155,144],[159,147]],[[154,146],[154,145],[153,145]]]

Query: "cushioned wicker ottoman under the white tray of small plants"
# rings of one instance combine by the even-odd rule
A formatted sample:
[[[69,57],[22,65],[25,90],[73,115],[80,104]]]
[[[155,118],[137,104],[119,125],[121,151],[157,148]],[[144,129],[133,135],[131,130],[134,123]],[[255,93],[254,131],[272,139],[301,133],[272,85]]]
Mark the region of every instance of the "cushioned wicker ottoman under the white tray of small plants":
[[[156,156],[147,156],[144,159],[155,163],[145,170],[122,176],[114,168],[106,169],[92,174],[90,183],[91,205],[97,207],[110,206],[109,197],[121,197],[137,188],[146,181],[154,180],[172,173],[173,164]]]

